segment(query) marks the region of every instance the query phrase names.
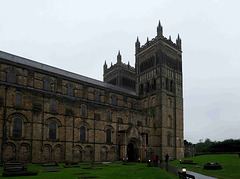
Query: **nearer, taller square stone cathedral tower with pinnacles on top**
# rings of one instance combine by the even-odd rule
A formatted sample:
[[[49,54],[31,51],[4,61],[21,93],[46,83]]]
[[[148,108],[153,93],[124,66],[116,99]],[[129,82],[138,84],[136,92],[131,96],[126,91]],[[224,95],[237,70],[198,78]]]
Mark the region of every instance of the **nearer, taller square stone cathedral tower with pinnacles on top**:
[[[141,46],[135,43],[136,93],[139,108],[151,119],[154,151],[160,158],[183,157],[183,83],[181,39],[163,36],[159,21],[157,36]]]

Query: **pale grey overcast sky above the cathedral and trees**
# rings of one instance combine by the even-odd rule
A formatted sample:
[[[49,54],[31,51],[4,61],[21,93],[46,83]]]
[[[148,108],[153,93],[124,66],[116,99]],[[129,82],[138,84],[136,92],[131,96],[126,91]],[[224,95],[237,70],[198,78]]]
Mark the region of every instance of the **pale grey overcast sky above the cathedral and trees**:
[[[238,139],[239,0],[0,0],[0,50],[102,80],[103,64],[135,65],[141,44],[182,39],[184,137]]]

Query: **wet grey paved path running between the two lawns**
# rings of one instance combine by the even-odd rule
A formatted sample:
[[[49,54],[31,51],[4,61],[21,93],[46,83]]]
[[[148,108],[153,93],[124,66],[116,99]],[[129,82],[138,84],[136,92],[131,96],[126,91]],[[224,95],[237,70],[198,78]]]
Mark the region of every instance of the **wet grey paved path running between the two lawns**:
[[[166,170],[166,164],[165,163],[161,164],[160,168],[163,170]],[[168,166],[168,172],[178,176],[178,171],[181,171],[181,169],[173,167],[173,166]],[[192,172],[192,171],[187,171],[187,174],[195,176],[196,179],[216,179],[214,177],[209,177],[209,176],[202,175],[200,173],[196,173],[196,172]]]

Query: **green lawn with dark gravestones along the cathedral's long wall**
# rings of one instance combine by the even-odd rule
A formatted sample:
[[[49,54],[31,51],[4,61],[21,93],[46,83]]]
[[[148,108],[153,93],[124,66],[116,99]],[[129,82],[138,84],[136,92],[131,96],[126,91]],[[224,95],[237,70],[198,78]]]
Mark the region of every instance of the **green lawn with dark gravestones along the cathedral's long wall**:
[[[81,168],[63,168],[60,169],[59,172],[39,172],[37,176],[28,176],[27,178],[46,178],[46,179],[61,179],[61,178],[78,178],[79,176],[99,176],[100,178],[163,178],[163,179],[176,179],[177,176],[173,174],[169,174],[168,172],[161,170],[160,168],[155,167],[147,167],[145,163],[136,163],[136,165],[122,165],[121,163],[112,163],[108,166],[100,166],[96,165],[96,167],[101,167],[103,169],[100,170],[86,170],[82,169],[82,167],[88,167],[87,165],[79,164]],[[63,163],[59,164],[59,167],[64,166]],[[89,165],[91,166],[91,165]],[[117,167],[116,167],[117,166]],[[28,171],[38,171],[43,170],[46,167],[37,166],[35,164],[28,165]],[[53,167],[48,167],[53,168]],[[141,170],[134,170],[143,168]],[[0,167],[1,173],[3,172],[3,167]],[[89,172],[90,174],[84,175],[75,175],[73,173],[80,173],[80,172]],[[136,172],[136,173],[129,173],[127,172]],[[26,177],[11,177],[11,179],[20,179]]]

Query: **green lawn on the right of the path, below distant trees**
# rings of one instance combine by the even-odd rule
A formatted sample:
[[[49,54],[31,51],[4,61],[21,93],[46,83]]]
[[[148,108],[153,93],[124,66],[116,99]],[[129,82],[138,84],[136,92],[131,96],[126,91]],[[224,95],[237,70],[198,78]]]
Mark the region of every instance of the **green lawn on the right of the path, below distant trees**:
[[[200,155],[182,160],[193,160],[196,165],[180,164],[179,160],[171,161],[169,165],[216,177],[219,179],[240,178],[240,158],[237,154]],[[222,170],[203,170],[206,163],[217,162],[222,166]],[[200,166],[200,168],[195,168]]]

